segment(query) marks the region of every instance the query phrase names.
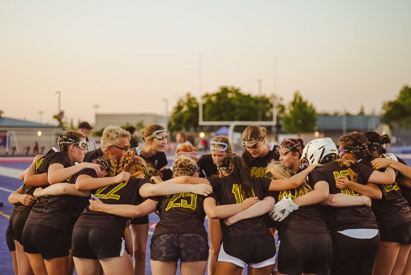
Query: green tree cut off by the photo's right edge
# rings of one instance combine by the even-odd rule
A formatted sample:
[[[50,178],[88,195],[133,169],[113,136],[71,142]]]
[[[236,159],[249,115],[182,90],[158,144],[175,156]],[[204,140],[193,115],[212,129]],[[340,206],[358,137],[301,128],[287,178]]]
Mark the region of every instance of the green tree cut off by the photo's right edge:
[[[392,128],[411,128],[411,88],[404,86],[397,99],[383,104],[381,121]]]

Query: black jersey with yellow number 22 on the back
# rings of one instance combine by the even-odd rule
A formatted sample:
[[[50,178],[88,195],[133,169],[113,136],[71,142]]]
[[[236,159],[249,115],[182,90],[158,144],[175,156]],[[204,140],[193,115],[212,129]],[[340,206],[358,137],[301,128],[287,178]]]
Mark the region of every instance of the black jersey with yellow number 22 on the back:
[[[97,174],[95,175],[95,177]],[[96,190],[94,196],[100,198],[106,204],[132,204],[138,205],[143,199],[139,194],[141,186],[150,184],[147,179],[131,177],[128,181],[104,186]],[[124,236],[124,229],[129,218],[112,215],[104,212],[94,212],[86,207],[77,219],[77,226],[101,227],[112,230],[120,236]]]

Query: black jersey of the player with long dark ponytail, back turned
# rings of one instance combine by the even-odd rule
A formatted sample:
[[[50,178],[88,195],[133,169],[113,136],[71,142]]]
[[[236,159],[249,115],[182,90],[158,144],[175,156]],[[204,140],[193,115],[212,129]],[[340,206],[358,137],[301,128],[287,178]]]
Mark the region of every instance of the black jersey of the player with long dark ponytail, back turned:
[[[207,178],[213,187],[213,193],[210,195],[220,205],[242,203],[244,198],[241,196],[240,182],[234,182],[232,177]],[[271,180],[267,178],[251,178],[253,193],[255,197],[262,200],[265,197],[273,197],[269,191]],[[233,225],[226,226],[224,219],[220,219],[221,233],[223,241],[227,238],[239,235],[267,235],[271,236],[270,230],[265,223],[265,215],[243,219]]]

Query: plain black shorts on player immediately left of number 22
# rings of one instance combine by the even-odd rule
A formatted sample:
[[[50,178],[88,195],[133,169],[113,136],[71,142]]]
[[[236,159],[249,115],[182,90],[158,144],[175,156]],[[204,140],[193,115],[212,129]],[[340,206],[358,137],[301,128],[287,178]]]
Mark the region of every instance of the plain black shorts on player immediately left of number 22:
[[[45,260],[69,256],[69,240],[63,230],[26,224],[23,243],[25,253],[41,254]]]

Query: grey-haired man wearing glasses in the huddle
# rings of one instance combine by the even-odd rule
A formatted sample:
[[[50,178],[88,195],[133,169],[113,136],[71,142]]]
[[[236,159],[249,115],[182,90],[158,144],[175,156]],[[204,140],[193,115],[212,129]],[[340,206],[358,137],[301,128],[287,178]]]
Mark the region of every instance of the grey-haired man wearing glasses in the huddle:
[[[122,155],[130,149],[130,137],[130,132],[118,126],[106,127],[101,137],[101,147],[87,152],[84,161],[92,162],[100,157],[114,157],[119,162]]]

